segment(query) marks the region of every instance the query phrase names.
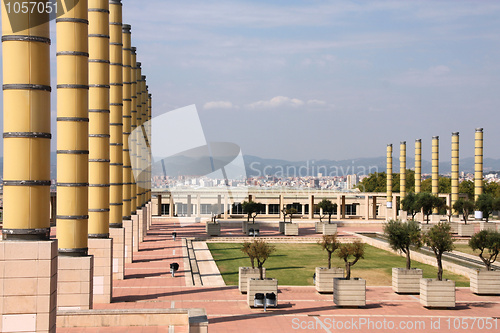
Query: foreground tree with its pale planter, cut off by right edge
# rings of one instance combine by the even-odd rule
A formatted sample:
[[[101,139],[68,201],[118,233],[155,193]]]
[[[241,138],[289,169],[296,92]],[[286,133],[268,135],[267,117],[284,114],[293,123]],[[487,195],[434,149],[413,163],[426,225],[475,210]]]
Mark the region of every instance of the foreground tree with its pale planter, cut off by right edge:
[[[482,230],[472,236],[469,246],[473,250],[481,251],[479,258],[486,266],[486,271],[478,269],[470,274],[471,291],[481,295],[500,294],[500,271],[494,271],[491,268],[500,253],[500,233]]]

